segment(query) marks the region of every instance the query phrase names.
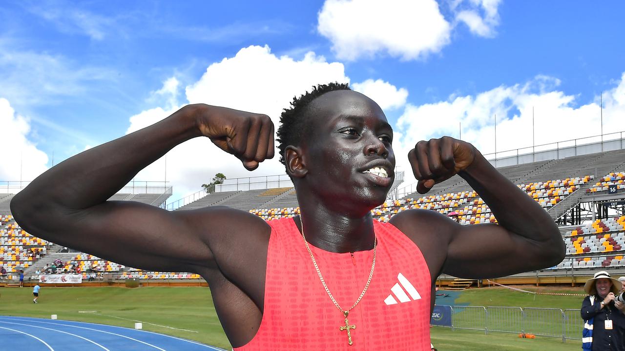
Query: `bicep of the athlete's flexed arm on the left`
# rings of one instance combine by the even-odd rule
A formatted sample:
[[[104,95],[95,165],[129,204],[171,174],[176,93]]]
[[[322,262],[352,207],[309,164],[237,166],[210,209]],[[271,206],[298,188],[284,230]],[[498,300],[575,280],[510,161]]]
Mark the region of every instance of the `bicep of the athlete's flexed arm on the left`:
[[[229,213],[231,216],[232,214]],[[202,224],[227,220],[219,210],[175,211],[131,201],[96,205],[71,221],[58,244],[119,264],[146,270],[196,271],[213,255]],[[201,222],[201,223],[200,223]],[[204,231],[202,231],[204,230]]]

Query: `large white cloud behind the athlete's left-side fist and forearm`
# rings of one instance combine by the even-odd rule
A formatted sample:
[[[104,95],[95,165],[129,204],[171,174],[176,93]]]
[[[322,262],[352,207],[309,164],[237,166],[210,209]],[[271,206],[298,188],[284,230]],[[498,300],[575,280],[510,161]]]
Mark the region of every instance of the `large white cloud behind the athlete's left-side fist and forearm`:
[[[324,57],[308,52],[301,61],[288,56],[277,57],[267,46],[241,49],[234,57],[226,57],[207,67],[204,75],[186,87],[189,103],[206,103],[244,111],[267,114],[277,129],[282,109],[289,106],[312,86],[327,82],[349,82],[344,67],[326,62]],[[155,99],[164,100],[165,107],[155,107],[131,117],[127,132],[136,131],[169,116],[186,102],[178,102],[173,79],[154,92]],[[173,103],[169,103],[169,102]],[[169,107],[171,108],[169,108]],[[229,178],[284,174],[279,157],[262,162],[254,172],[247,172],[234,156],[217,149],[207,138],[184,142],[168,153],[167,180],[174,185],[174,199],[200,189],[200,185],[221,172]],[[141,171],[136,180],[163,180],[164,157]]]

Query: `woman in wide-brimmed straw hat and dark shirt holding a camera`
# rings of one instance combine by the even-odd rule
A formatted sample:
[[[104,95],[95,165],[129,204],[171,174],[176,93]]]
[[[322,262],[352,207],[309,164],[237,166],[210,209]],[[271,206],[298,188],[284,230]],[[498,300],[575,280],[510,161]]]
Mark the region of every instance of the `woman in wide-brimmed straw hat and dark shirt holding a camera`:
[[[581,317],[584,320],[582,350],[625,351],[625,305],[614,299],[622,283],[606,271],[597,272],[584,284],[588,296],[584,298]]]

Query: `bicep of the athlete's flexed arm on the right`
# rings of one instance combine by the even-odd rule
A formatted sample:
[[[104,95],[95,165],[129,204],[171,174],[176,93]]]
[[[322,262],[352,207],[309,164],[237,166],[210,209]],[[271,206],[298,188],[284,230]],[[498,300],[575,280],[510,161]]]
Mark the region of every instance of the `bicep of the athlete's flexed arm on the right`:
[[[497,224],[461,226],[452,234],[443,272],[479,279],[539,269],[532,262],[537,245]]]

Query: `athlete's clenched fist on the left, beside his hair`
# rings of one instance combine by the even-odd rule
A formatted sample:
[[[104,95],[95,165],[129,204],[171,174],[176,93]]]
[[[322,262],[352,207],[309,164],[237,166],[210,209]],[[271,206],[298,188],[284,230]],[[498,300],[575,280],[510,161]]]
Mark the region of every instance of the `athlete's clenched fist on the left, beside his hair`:
[[[274,126],[264,114],[202,106],[197,127],[217,147],[236,156],[247,171],[274,157]]]

